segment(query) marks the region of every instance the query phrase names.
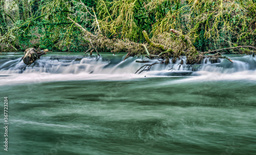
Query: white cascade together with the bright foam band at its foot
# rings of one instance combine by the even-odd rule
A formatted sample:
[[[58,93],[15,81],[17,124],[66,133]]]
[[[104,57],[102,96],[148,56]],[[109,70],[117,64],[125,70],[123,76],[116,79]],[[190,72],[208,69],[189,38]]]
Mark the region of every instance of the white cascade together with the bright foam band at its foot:
[[[136,60],[143,58],[130,57],[122,61],[124,57],[82,57],[80,61],[75,61],[68,59],[69,56],[47,55],[31,65],[24,64],[20,58],[6,61],[2,59],[0,85],[68,80],[131,80],[152,76],[191,77],[186,81],[256,80],[256,57],[252,56],[234,56],[231,58],[233,63],[222,59],[219,63],[211,64],[208,59],[204,59],[203,64],[196,65],[187,65],[186,58],[182,58],[176,63],[170,61],[168,65],[155,64],[149,71],[140,74],[135,72],[141,66],[159,61],[136,63]],[[181,61],[184,63],[181,64]]]

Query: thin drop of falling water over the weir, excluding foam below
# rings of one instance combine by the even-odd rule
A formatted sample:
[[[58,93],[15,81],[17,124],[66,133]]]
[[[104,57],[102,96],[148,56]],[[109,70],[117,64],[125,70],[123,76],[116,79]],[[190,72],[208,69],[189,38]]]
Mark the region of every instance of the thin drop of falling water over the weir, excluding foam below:
[[[64,58],[64,59],[63,59]],[[79,59],[75,59],[79,58]],[[124,58],[106,59],[102,57],[41,57],[31,65],[26,65],[18,58],[4,62],[0,65],[0,74],[12,73],[52,73],[52,74],[125,74],[135,73],[141,66],[145,64],[158,63],[158,60],[152,60],[148,63],[136,63],[136,60],[143,60],[141,57],[130,57],[125,61]],[[177,71],[209,71],[220,73],[233,73],[245,70],[256,69],[256,58],[252,56],[233,57],[233,63],[222,59],[218,63],[211,63],[207,59],[202,60],[202,64],[188,65],[186,58],[183,57],[172,63],[169,60],[168,65],[155,64],[150,71],[145,72],[177,72]],[[143,73],[143,72],[142,72]]]

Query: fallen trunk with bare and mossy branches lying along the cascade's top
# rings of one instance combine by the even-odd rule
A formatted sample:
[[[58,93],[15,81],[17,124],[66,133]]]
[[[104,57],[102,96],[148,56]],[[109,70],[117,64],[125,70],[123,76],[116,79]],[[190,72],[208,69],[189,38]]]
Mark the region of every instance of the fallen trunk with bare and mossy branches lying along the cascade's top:
[[[99,34],[99,35],[94,35],[90,32],[88,32],[86,29],[84,29],[80,24],[78,24],[77,22],[75,22],[74,20],[72,20],[71,18],[68,17],[68,19],[70,19],[78,28],[80,28],[80,30],[82,30],[84,32],[84,36],[87,37],[87,39],[90,42],[90,47],[89,49],[86,51],[85,54],[88,53],[89,50],[93,49],[96,51],[96,53],[98,54],[97,48],[96,47],[102,47],[102,48],[110,48],[112,50],[112,52],[115,53],[115,51],[117,51],[116,49],[119,49],[119,51],[125,51],[125,44],[127,45],[127,42],[122,41],[122,40],[116,40],[116,39],[109,39],[104,37],[103,35]],[[238,46],[238,47],[230,47],[230,48],[223,48],[223,49],[217,49],[217,50],[213,50],[213,51],[209,51],[209,52],[200,52],[197,51],[195,46],[191,43],[190,39],[183,35],[181,32],[178,32],[174,29],[170,29],[170,32],[172,32],[173,34],[175,34],[175,37],[173,41],[175,45],[177,45],[176,47],[172,48],[170,46],[166,46],[164,44],[161,43],[156,43],[154,41],[152,41],[146,31],[142,31],[145,40],[147,41],[148,44],[139,44],[139,43],[135,43],[135,42],[131,42],[128,41],[129,43],[129,50],[127,51],[127,55],[124,58],[124,60],[128,57],[131,56],[136,56],[139,54],[143,54],[143,52],[138,53],[138,50],[142,50],[141,47],[144,47],[144,54],[146,54],[146,57],[148,59],[164,59],[165,64],[168,64],[169,59],[173,60],[173,63],[176,62],[177,58],[180,58],[180,56],[186,56],[187,60],[186,60],[186,64],[200,64],[202,63],[202,60],[204,58],[209,58],[211,63],[217,63],[218,59],[227,59],[228,61],[230,61],[231,63],[233,63],[233,61],[231,59],[229,59],[226,56],[222,56],[220,53],[216,53],[214,55],[208,55],[208,54],[212,54],[215,53],[215,51],[221,51],[221,50],[225,50],[225,49],[233,49],[233,48],[241,48],[241,47],[250,47],[252,49],[256,49],[255,47],[252,46]],[[154,39],[156,40],[156,39]],[[108,45],[106,45],[108,44]],[[179,46],[180,44],[180,46]],[[155,54],[150,54],[150,52],[147,49],[147,46],[151,47],[151,49],[154,49]],[[135,48],[133,48],[133,47]],[[126,48],[127,49],[127,48]],[[134,49],[134,50],[131,50]],[[158,50],[156,50],[158,49]],[[92,51],[91,53],[92,54]],[[136,52],[135,52],[136,51]],[[157,54],[157,55],[156,55]],[[99,55],[99,54],[98,54]],[[100,56],[100,55],[99,55]],[[148,61],[143,60],[143,61],[136,61],[138,63],[146,63]],[[151,67],[150,67],[151,68]],[[150,68],[148,68],[147,70],[149,70]],[[143,69],[145,70],[145,69]]]

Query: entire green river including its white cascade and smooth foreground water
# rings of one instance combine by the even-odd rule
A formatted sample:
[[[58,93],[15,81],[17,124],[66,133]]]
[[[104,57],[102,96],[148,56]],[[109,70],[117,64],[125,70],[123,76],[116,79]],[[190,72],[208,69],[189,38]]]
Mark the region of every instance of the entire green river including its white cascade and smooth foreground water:
[[[135,74],[142,57],[101,55],[1,54],[0,154],[256,154],[256,58]]]

